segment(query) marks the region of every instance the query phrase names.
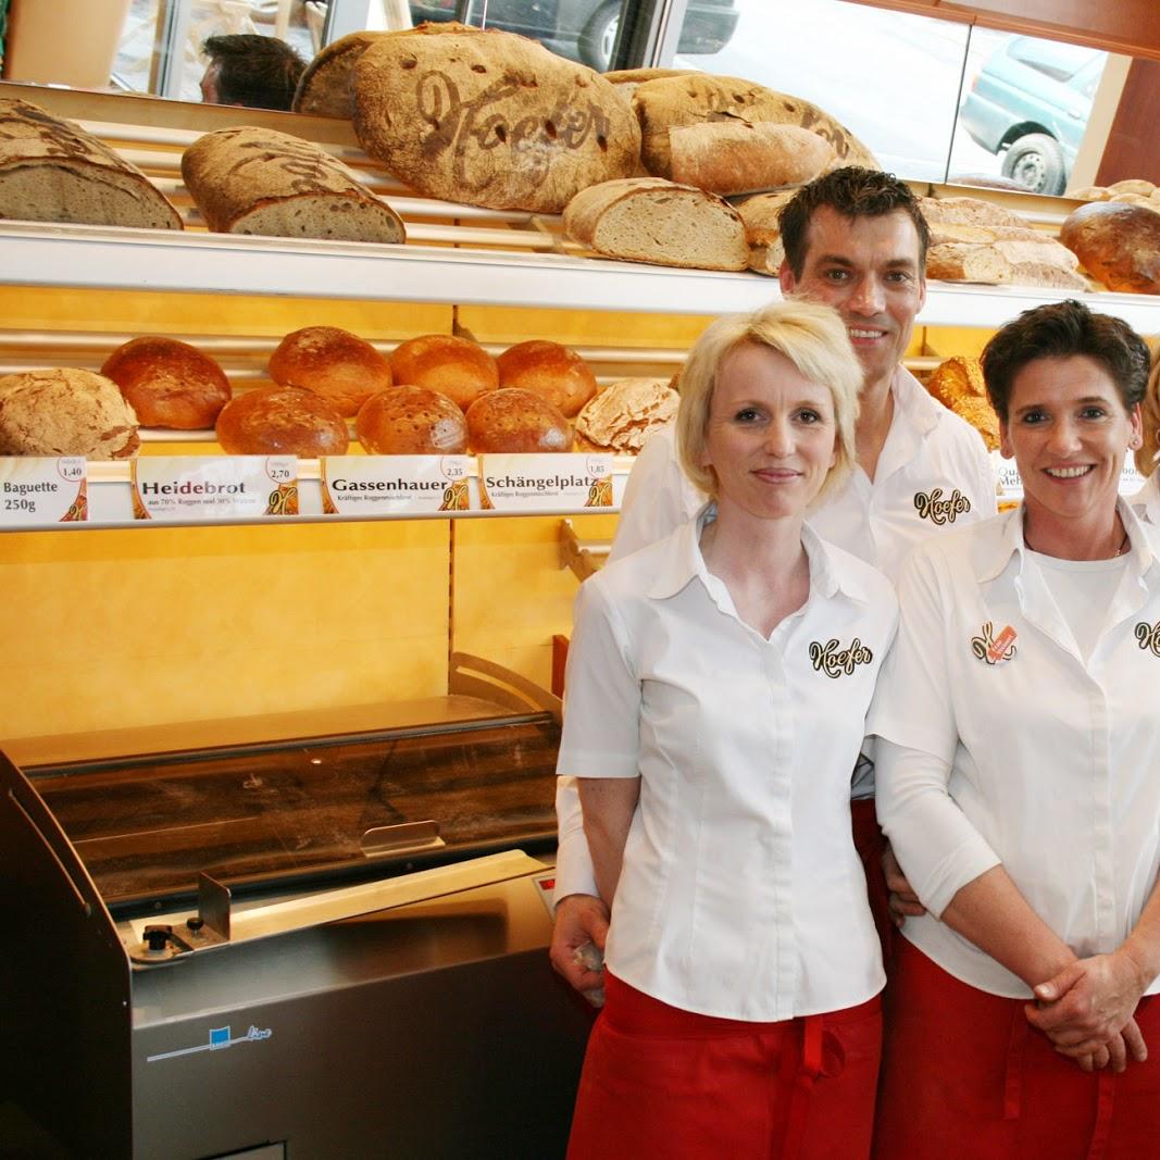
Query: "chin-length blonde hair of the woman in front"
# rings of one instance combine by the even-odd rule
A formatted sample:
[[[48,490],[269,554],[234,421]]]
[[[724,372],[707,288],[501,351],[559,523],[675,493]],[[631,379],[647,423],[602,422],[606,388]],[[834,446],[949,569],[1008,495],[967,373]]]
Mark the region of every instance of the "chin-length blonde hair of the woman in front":
[[[862,390],[862,364],[850,346],[846,324],[835,310],[819,303],[795,298],[752,314],[730,314],[717,319],[697,339],[681,370],[681,407],[676,414],[681,466],[697,487],[717,498],[717,476],[702,462],[709,413],[722,364],[746,343],[776,350],[811,383],[829,390],[836,428],[834,465],[813,499],[811,507],[817,506],[846,481],[854,466],[854,425]]]

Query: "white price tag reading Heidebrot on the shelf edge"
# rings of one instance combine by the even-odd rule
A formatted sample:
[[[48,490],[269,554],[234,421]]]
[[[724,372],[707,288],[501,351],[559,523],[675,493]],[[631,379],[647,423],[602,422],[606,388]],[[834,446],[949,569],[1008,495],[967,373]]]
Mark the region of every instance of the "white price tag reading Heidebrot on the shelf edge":
[[[137,520],[235,520],[298,514],[292,455],[166,456],[133,459]]]

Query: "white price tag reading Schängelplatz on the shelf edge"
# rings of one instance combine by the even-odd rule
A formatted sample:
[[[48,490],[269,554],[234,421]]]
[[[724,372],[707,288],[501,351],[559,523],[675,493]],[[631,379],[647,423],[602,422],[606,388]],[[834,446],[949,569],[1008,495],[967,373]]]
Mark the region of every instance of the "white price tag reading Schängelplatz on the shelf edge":
[[[612,506],[610,455],[485,455],[479,462],[484,508],[582,512]]]

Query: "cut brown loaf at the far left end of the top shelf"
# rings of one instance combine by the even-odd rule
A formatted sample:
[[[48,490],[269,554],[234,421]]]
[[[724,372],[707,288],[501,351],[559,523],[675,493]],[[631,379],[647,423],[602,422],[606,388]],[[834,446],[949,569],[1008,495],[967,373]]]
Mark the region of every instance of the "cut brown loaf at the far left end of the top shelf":
[[[148,177],[80,125],[0,96],[0,218],[181,230]]]

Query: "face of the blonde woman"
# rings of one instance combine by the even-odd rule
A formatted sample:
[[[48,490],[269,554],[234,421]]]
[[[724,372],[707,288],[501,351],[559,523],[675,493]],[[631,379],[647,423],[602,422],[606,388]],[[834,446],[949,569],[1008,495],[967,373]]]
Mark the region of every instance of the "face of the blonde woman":
[[[702,457],[717,477],[718,507],[804,515],[836,462],[836,429],[828,387],[776,350],[738,347],[717,372]]]

